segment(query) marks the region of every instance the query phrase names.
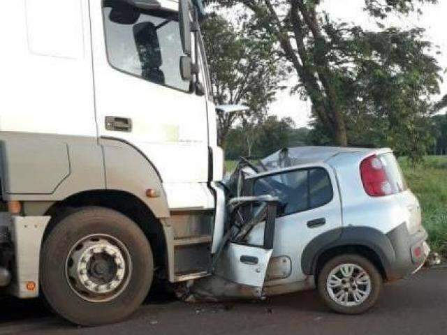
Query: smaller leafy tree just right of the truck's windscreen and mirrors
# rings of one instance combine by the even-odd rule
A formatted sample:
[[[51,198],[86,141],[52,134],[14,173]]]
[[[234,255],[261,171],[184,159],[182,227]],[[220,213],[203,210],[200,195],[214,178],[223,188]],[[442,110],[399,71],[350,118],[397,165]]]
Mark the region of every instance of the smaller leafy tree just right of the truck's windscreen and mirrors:
[[[239,27],[240,26],[240,27]],[[263,119],[284,78],[274,38],[260,34],[251,22],[232,24],[213,13],[201,24],[210,65],[214,102],[244,104],[249,112],[218,112],[219,144],[225,147],[228,131],[237,120]],[[254,126],[253,122],[249,126]]]

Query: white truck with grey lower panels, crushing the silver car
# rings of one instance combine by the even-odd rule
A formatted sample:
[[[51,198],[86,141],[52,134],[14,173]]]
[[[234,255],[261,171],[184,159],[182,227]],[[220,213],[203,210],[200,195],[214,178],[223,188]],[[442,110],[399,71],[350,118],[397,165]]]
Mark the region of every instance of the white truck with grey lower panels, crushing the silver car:
[[[8,293],[30,298],[43,291],[55,310],[72,315],[59,307],[61,292],[52,291],[59,279],[70,282],[73,299],[112,301],[115,291],[132,285],[133,271],[139,271],[132,260],[139,253],[145,253],[147,269],[133,292],[135,306],[149,290],[154,269],[172,283],[209,274],[223,234],[225,197],[217,183],[223,153],[200,8],[198,2],[171,0],[5,4],[0,285]],[[86,228],[96,237],[69,239],[66,255],[47,264],[54,252],[49,244],[64,240],[58,231],[66,220],[81,215],[84,222],[91,215],[110,221],[109,214],[121,218],[115,235],[130,229],[122,222],[135,225],[129,239],[143,239],[145,251],[133,254],[120,238],[105,236],[110,232],[96,236]],[[75,223],[67,227],[72,224],[68,231],[82,230]],[[95,245],[117,255],[124,266],[119,280],[98,279],[98,273],[95,282],[68,269]],[[119,273],[108,253],[93,255],[98,260],[89,258],[88,269]],[[57,277],[55,267],[66,268],[65,275]],[[93,323],[126,315],[107,313]],[[91,324],[87,314],[68,319]]]

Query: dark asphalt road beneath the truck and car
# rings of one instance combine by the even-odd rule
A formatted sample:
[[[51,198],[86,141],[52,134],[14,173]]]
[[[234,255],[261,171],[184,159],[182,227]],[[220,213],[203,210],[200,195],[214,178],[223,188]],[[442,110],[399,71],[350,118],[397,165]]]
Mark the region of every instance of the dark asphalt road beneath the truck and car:
[[[160,297],[159,297],[160,298]],[[384,287],[379,303],[364,315],[328,311],[316,292],[299,292],[265,301],[185,304],[173,299],[147,301],[126,322],[75,327],[51,315],[41,301],[0,300],[3,334],[447,334],[447,269],[420,271]]]

